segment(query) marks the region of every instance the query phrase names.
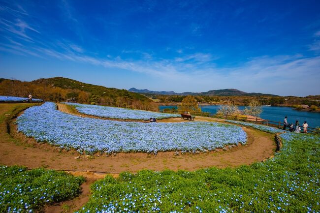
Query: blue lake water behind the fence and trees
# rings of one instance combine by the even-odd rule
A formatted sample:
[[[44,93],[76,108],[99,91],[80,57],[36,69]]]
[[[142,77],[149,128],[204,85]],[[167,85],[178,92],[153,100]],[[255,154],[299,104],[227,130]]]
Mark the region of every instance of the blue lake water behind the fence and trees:
[[[177,106],[160,106],[160,110],[166,108],[175,108]],[[206,105],[200,106],[202,112],[209,112],[211,114],[216,114],[220,108],[220,105]],[[243,110],[244,106],[239,106],[240,110]],[[306,121],[310,127],[320,126],[320,113],[319,112],[306,112],[306,111],[297,111],[293,110],[291,107],[280,107],[280,106],[262,106],[262,113],[260,118],[275,121],[283,122],[285,116],[288,116],[288,123],[294,123],[296,120],[300,122],[300,125]]]

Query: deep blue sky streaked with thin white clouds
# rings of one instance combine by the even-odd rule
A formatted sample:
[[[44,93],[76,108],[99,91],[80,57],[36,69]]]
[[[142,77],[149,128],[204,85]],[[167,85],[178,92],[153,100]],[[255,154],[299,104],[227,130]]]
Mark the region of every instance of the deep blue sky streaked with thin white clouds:
[[[0,77],[320,94],[319,0],[0,0]]]

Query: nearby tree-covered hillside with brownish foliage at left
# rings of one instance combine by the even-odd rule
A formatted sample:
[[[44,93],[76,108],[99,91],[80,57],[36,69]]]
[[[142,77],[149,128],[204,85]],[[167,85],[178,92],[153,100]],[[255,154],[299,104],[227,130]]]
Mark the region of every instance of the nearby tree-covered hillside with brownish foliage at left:
[[[86,84],[62,77],[37,79],[32,82],[0,79],[0,95],[27,97],[29,93],[32,93],[34,98],[57,102],[68,98],[74,98],[80,103],[107,102],[118,105],[151,101],[144,95],[127,90]]]

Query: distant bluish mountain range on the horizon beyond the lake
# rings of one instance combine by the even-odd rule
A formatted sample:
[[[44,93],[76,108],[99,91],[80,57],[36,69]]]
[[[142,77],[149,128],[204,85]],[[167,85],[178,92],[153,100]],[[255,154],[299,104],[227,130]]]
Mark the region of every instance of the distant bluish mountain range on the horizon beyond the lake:
[[[210,90],[205,92],[182,92],[177,93],[174,91],[150,91],[147,89],[138,90],[131,88],[128,91],[136,92],[140,94],[163,94],[163,95],[210,95],[210,96],[279,96],[275,94],[264,94],[259,92],[244,92],[236,89],[224,89],[224,90]]]

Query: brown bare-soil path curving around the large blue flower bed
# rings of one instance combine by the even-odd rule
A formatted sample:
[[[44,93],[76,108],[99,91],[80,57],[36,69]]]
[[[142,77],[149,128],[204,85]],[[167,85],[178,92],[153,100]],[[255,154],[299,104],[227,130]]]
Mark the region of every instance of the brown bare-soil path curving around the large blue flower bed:
[[[79,115],[59,104],[59,109],[65,113]],[[12,104],[0,105],[0,164],[3,165],[23,165],[28,168],[44,167],[56,170],[77,170],[73,175],[83,175],[87,182],[82,185],[82,194],[71,200],[61,202],[46,207],[46,213],[69,213],[74,212],[83,206],[90,195],[89,186],[94,180],[103,178],[106,173],[117,177],[117,173],[124,171],[136,173],[142,169],[160,171],[188,170],[194,171],[208,167],[237,167],[243,164],[249,165],[256,161],[262,161],[274,154],[276,146],[274,135],[264,133],[255,129],[243,127],[247,133],[247,145],[237,146],[231,150],[223,151],[217,149],[206,153],[176,153],[159,152],[157,155],[148,153],[117,153],[110,156],[98,154],[94,156],[79,155],[76,151],[64,151],[47,143],[38,143],[33,138],[28,138],[24,134],[17,132],[14,120],[7,125],[5,117],[8,111],[12,110]],[[90,117],[90,116],[89,116]],[[196,121],[222,122],[223,120],[196,117]],[[159,122],[186,122],[180,118],[163,119]],[[75,157],[79,158],[75,159]],[[96,172],[94,172],[96,171]],[[102,172],[102,173],[100,173]]]

